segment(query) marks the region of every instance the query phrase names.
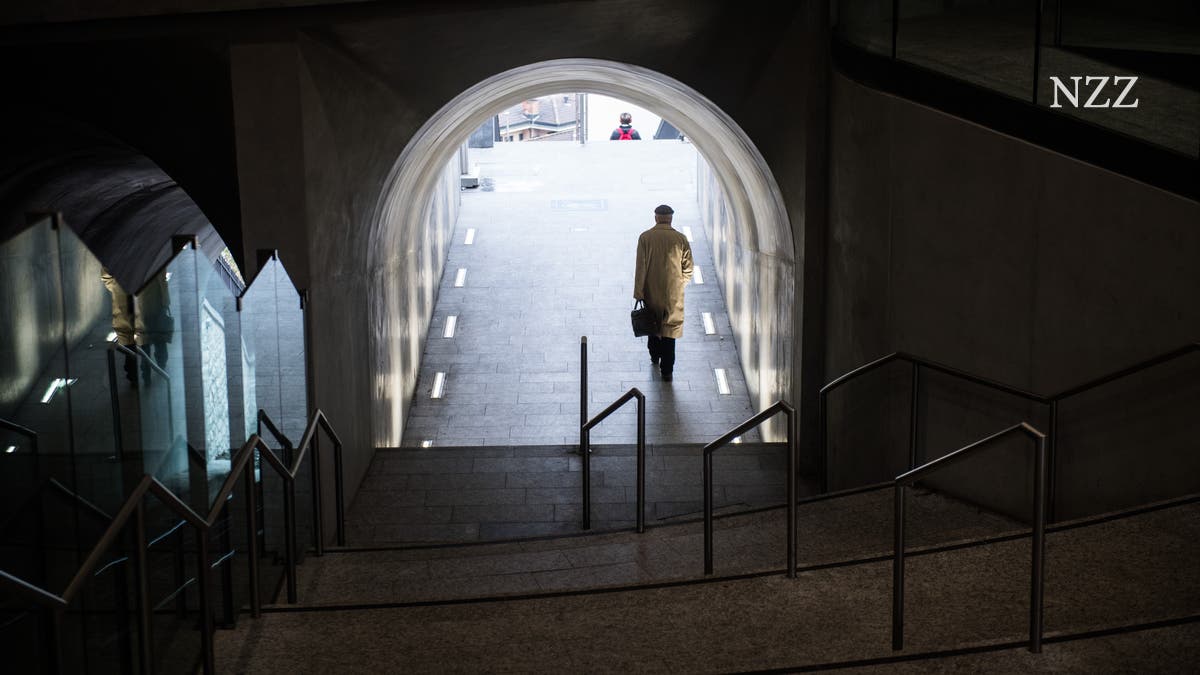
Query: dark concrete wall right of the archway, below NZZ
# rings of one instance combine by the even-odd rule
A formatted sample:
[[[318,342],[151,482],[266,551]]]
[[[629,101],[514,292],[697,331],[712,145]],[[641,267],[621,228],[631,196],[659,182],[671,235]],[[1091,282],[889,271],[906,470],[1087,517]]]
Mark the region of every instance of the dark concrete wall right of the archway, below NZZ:
[[[1052,394],[1200,338],[1200,204],[838,74],[832,91],[832,376],[907,351]],[[1062,404],[1060,518],[1200,490],[1196,375],[1200,357]],[[906,465],[908,377],[834,398],[830,488]],[[919,418],[932,459],[1048,412],[929,376]],[[940,484],[1021,513],[1027,455],[997,447]]]

